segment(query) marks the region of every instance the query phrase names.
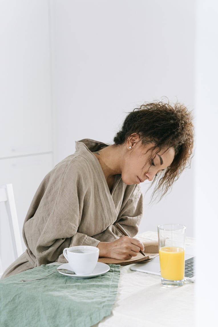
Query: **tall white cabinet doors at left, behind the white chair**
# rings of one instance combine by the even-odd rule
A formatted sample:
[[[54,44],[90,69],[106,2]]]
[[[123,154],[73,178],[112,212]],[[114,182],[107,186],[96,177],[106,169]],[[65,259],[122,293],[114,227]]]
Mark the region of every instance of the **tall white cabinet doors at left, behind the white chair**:
[[[49,27],[47,1],[0,1],[0,184],[13,184],[21,234],[33,195],[53,167]],[[14,257],[0,209],[5,269]]]

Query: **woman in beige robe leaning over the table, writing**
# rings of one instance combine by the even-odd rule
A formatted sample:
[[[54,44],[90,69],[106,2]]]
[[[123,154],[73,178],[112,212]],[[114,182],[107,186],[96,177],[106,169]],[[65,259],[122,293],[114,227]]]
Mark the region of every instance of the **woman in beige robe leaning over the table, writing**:
[[[187,166],[193,148],[191,113],[180,104],[143,104],[129,113],[114,144],[84,139],[40,184],[23,227],[26,251],[2,278],[52,262],[63,249],[99,248],[99,256],[129,259],[144,250],[133,238],[143,217],[140,183],[158,181],[160,198]],[[158,179],[158,180],[157,180]],[[131,237],[121,237],[119,222]]]

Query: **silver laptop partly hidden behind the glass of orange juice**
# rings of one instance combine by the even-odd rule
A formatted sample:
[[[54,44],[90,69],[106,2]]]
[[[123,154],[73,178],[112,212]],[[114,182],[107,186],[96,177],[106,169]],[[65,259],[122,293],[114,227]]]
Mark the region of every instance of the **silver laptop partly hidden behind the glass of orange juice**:
[[[190,254],[189,254],[190,253]],[[194,282],[195,281],[195,255],[194,249],[191,247],[186,247],[185,249],[185,281]],[[134,264],[130,266],[131,270],[137,270],[146,272],[149,274],[160,275],[160,260],[159,255],[150,261],[145,261],[141,263]]]

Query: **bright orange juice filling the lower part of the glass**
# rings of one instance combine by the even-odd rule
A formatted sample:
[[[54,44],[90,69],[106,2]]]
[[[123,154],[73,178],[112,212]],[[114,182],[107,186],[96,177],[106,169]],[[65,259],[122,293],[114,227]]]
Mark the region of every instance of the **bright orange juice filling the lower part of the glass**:
[[[159,249],[161,277],[171,281],[184,278],[185,250],[177,247]]]

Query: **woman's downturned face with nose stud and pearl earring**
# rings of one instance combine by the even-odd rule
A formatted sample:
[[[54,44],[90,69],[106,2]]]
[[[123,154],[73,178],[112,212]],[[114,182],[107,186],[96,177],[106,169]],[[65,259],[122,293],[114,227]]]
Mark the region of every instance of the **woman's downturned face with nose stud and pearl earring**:
[[[129,148],[131,146],[131,148]],[[154,176],[166,169],[175,156],[173,147],[156,151],[149,150],[153,144],[142,145],[130,142],[126,145],[126,156],[121,167],[122,180],[125,184],[139,184],[145,180],[152,181]]]

